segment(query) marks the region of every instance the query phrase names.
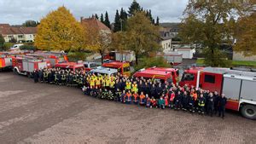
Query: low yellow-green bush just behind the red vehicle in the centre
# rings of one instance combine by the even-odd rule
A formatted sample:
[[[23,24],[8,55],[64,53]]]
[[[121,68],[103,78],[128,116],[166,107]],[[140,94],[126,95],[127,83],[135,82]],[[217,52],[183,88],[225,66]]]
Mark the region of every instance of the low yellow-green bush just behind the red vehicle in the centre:
[[[139,64],[135,66],[135,71],[138,71],[142,68],[148,67],[171,67],[171,65],[163,57],[145,57],[140,60]]]

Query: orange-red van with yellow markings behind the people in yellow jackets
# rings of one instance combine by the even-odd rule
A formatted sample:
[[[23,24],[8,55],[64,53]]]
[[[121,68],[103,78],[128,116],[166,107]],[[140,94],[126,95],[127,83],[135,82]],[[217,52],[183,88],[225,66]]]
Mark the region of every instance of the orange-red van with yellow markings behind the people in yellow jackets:
[[[127,77],[131,76],[129,62],[109,61],[109,62],[103,63],[102,66],[117,69],[119,73]]]

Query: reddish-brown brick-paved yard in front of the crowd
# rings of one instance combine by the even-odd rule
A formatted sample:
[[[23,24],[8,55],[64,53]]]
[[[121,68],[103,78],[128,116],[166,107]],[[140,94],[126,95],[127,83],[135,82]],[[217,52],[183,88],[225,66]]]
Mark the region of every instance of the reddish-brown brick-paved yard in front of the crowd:
[[[148,109],[0,73],[0,143],[256,143],[256,122]]]

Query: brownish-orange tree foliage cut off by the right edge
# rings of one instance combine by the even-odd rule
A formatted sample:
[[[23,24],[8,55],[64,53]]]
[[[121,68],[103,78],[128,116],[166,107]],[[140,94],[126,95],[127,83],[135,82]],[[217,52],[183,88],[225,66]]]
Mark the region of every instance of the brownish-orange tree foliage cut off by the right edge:
[[[236,52],[246,56],[256,55],[256,12],[238,20],[236,38]]]

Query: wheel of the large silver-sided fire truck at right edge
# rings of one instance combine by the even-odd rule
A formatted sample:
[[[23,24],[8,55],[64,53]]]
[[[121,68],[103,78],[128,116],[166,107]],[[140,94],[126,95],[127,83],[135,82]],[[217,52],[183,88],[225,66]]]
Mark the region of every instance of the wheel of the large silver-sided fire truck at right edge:
[[[245,105],[241,107],[241,114],[248,119],[256,119],[256,107],[252,105]]]

